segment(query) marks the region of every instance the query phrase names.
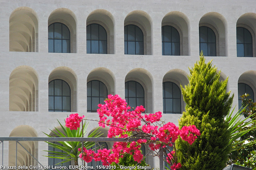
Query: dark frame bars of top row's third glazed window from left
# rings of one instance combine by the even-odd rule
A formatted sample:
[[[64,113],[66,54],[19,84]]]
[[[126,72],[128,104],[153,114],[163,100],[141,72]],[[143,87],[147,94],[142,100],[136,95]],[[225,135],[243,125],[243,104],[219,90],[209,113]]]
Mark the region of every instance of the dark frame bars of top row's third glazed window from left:
[[[134,26],[134,41],[128,41],[128,26]],[[135,24],[127,24],[127,25],[125,25],[124,26],[124,31],[125,31],[125,27],[127,27],[127,29],[126,29],[126,36],[127,36],[127,38],[126,38],[126,40],[125,40],[125,33],[124,33],[124,54],[125,55],[144,55],[144,46],[145,46],[145,44],[144,44],[144,33],[143,33],[143,31],[142,31],[142,29],[139,27],[139,26],[137,26],[137,25],[135,25]],[[139,28],[139,30],[141,31],[141,33],[142,33],[142,41],[136,41],[136,27],[137,28]],[[126,51],[125,51],[125,42],[127,42],[127,54],[125,53]],[[135,54],[128,54],[128,42],[134,42],[135,43]],[[142,54],[136,54],[136,42],[142,42]]]

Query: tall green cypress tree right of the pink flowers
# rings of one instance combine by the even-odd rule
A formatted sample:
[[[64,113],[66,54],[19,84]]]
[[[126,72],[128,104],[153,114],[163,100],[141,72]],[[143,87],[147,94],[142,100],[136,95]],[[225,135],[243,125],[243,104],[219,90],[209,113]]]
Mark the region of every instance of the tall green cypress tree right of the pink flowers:
[[[176,141],[180,170],[221,170],[226,166],[229,152],[228,114],[234,94],[226,92],[228,78],[220,82],[220,72],[205,63],[203,53],[194,68],[189,69],[189,84],[181,86],[186,111],[179,120],[179,127],[196,125],[201,136],[189,145],[180,138]]]

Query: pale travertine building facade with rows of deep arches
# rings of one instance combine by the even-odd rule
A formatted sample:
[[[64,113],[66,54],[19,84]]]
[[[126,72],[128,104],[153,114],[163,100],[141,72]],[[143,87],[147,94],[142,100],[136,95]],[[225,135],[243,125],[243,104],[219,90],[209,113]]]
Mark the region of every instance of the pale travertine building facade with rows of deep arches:
[[[55,22],[69,28],[71,53],[48,53],[48,26]],[[45,137],[42,132],[50,133],[48,128],[58,126],[56,119],[67,116],[48,112],[48,83],[54,79],[70,86],[71,112],[90,119],[98,118],[87,113],[86,84],[91,80],[100,80],[108,93],[123,98],[124,83],[137,81],[145,90],[146,112],[163,111],[163,82],[188,84],[188,67],[199,59],[199,26],[211,28],[216,35],[217,56],[205,58],[213,59],[221,79],[229,77],[228,90],[236,96],[233,107],[238,105],[238,83],[249,85],[256,94],[254,0],[2,0],[0,23],[2,137]],[[106,29],[108,54],[86,54],[86,26],[93,23]],[[124,55],[124,26],[129,24],[144,34],[144,55]],[[166,25],[180,34],[180,56],[162,55],[161,27]],[[253,57],[237,57],[236,27],[252,34]],[[181,101],[181,111],[184,107]],[[165,114],[163,119],[178,125],[180,116]],[[96,122],[90,122],[87,132],[96,127]],[[27,147],[43,165],[48,164],[41,156],[48,149],[46,143]],[[4,165],[15,163],[13,148],[12,143],[4,143]],[[19,164],[26,164],[28,154],[21,150],[18,154]],[[148,158],[147,163],[159,166],[156,158]]]

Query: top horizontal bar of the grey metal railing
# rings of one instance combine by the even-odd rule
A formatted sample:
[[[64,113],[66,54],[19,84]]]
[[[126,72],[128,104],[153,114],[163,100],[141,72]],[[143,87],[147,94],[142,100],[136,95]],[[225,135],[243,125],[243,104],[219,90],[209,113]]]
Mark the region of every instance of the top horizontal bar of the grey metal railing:
[[[87,141],[87,142],[131,142],[136,138],[106,137],[0,137],[0,141]]]

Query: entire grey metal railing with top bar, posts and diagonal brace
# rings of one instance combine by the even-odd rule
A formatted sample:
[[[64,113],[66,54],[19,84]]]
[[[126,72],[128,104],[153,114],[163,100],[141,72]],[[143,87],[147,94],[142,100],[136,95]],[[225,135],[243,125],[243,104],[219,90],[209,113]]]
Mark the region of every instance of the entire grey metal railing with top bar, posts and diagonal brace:
[[[58,142],[58,141],[76,141],[76,142],[95,142],[95,148],[96,144],[98,142],[132,142],[136,141],[138,139],[136,138],[105,138],[105,137],[0,137],[0,144],[2,144],[2,167],[0,165],[0,169],[5,169],[4,166],[4,141],[13,141],[16,142],[16,169],[17,169],[17,148],[18,144],[26,151],[28,154],[36,160],[42,167],[44,167],[34,156],[31,154],[20,142],[21,141],[47,141],[47,142]],[[149,153],[149,152],[148,152]],[[147,156],[148,154],[146,154]],[[96,167],[96,162],[95,162]],[[43,168],[45,169],[45,168]],[[159,152],[159,169],[164,170],[164,156],[163,156],[163,150],[160,150]]]

